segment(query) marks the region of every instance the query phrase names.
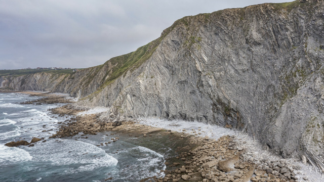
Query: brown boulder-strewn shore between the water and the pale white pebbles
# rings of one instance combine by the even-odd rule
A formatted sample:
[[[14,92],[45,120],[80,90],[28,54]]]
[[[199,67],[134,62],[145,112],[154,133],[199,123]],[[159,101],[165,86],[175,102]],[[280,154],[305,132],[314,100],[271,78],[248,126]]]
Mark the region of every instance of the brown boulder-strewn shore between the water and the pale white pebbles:
[[[177,140],[184,138],[186,144],[179,148],[176,159],[167,160],[165,177],[143,179],[142,181],[304,181],[300,177],[301,166],[293,165],[287,160],[258,160],[244,148],[242,141],[235,136],[225,135],[218,140],[165,130],[163,128],[139,124],[135,120],[103,120],[100,114],[77,115],[85,109],[66,105],[52,109],[55,114],[73,115],[62,123],[61,128],[51,137],[74,136],[79,132],[97,134],[100,131],[115,131],[136,137],[154,137],[156,133],[173,135]],[[198,133],[198,132],[194,132]],[[150,139],[148,139],[150,140]],[[113,141],[115,142],[115,141]],[[250,149],[251,150],[251,149]],[[176,162],[174,162],[177,160]],[[172,162],[170,162],[172,161]]]

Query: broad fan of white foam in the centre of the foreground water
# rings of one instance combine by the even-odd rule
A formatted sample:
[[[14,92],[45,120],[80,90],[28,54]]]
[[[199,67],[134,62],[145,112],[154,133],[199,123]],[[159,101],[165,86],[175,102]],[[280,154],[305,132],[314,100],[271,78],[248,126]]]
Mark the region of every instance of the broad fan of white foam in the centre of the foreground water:
[[[66,173],[94,170],[99,167],[113,166],[118,160],[94,145],[72,140],[61,142],[49,141],[42,145],[35,145],[33,150],[35,159],[42,162],[51,162],[51,165],[77,164],[78,168],[66,170]],[[94,155],[96,157],[94,157]]]

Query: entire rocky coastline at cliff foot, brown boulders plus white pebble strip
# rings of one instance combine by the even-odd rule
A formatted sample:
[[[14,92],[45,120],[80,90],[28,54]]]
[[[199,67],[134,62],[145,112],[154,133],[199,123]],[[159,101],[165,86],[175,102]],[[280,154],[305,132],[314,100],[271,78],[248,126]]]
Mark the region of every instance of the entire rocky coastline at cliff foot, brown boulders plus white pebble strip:
[[[16,93],[29,94],[30,92]],[[70,100],[63,101],[65,96],[62,95],[39,92],[31,92],[30,95],[45,98],[26,104],[73,103]],[[57,97],[61,99],[57,100]],[[184,128],[184,125],[178,125],[178,122],[173,122],[173,125],[169,124],[168,128],[167,125],[159,125],[159,122],[166,121],[154,118],[124,120],[118,125],[118,122],[107,123],[101,117],[101,113],[82,114],[89,109],[73,104],[53,109],[52,113],[59,114],[61,117],[65,115],[72,117],[66,123],[61,123],[60,130],[53,137],[73,137],[78,132],[95,135],[98,132],[110,131],[124,137],[135,136],[141,140],[165,142],[174,153],[166,158],[166,170],[161,171],[164,172],[164,177],[156,178],[156,175],[152,175],[141,181],[249,181],[250,179],[252,181],[297,181],[297,179],[317,181],[307,176],[305,172],[307,166],[302,166],[296,160],[283,159],[270,153],[268,158],[260,156],[260,149],[251,149],[256,145],[255,142],[249,141],[252,140],[251,138],[244,134],[235,134],[233,130],[229,132],[230,136],[214,133],[215,136],[210,128],[200,129],[203,123],[194,123],[195,127],[188,129]],[[212,127],[212,125],[207,126]],[[73,132],[70,132],[72,130]],[[167,139],[169,143],[166,142]],[[116,139],[115,142],[118,140]],[[220,161],[224,162],[220,163]],[[301,172],[302,168],[304,172]]]

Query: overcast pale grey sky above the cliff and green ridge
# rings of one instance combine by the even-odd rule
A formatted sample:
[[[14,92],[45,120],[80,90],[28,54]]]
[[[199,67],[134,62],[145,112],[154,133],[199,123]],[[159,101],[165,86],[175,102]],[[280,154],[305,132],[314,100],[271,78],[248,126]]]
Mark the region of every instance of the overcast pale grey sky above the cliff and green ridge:
[[[0,0],[0,70],[87,68],[199,13],[292,0]]]

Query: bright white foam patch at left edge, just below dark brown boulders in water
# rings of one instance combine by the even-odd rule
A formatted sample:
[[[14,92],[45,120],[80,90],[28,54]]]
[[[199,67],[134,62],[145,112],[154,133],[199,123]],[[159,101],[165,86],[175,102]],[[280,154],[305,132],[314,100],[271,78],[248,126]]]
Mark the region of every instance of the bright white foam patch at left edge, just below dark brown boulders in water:
[[[0,145],[0,165],[29,161],[31,159],[32,156],[23,149]]]

